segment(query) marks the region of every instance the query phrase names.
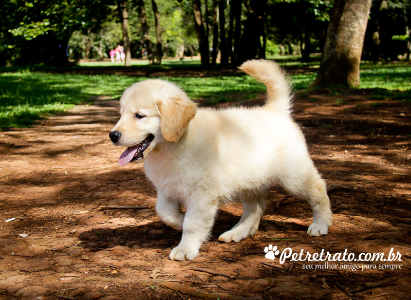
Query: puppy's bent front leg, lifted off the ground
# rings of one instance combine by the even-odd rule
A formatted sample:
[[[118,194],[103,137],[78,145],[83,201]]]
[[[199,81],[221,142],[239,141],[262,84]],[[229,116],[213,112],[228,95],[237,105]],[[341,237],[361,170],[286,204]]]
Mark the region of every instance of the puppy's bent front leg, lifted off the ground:
[[[175,230],[183,230],[184,214],[178,201],[169,199],[158,191],[156,211],[158,217],[168,226]]]

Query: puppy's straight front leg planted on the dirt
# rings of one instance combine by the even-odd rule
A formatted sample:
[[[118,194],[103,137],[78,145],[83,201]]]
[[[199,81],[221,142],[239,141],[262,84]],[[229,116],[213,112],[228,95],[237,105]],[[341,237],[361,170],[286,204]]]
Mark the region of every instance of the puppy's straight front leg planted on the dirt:
[[[215,203],[200,201],[191,201],[187,205],[183,222],[183,235],[179,245],[171,251],[170,259],[193,260],[197,257],[202,243],[209,238],[218,205],[217,201]]]

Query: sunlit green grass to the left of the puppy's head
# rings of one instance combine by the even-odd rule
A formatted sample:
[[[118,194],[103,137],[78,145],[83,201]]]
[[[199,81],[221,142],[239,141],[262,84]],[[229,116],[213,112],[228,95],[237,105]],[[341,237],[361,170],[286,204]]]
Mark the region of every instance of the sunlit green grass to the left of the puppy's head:
[[[90,97],[121,96],[134,83],[115,76],[18,71],[0,74],[0,128],[27,127],[41,116],[91,102]]]

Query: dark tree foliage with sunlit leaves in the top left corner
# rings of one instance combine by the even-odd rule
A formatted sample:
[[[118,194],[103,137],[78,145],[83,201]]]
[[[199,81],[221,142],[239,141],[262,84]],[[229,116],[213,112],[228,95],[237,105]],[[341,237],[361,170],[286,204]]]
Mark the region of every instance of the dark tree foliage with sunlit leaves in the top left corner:
[[[108,0],[5,1],[0,5],[0,64],[65,66],[72,32],[97,32],[109,13]]]

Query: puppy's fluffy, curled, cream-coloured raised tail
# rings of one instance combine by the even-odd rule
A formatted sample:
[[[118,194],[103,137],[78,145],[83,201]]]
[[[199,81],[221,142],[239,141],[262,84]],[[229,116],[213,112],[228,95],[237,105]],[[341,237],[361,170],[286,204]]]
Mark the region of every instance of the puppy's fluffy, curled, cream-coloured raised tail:
[[[291,114],[291,86],[286,79],[285,72],[276,63],[267,60],[251,60],[243,63],[239,69],[267,86],[265,107],[281,114]]]

